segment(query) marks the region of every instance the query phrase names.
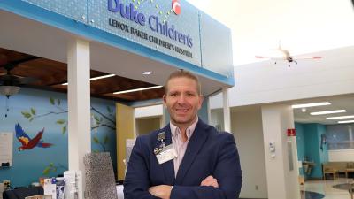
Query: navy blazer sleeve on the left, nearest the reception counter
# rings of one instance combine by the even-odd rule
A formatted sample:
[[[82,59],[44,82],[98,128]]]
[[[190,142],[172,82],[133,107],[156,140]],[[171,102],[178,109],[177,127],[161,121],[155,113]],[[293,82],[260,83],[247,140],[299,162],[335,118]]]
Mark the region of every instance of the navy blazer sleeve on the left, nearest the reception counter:
[[[142,137],[138,137],[133,147],[124,180],[125,199],[158,199],[150,195],[150,180],[147,156],[144,154]]]

